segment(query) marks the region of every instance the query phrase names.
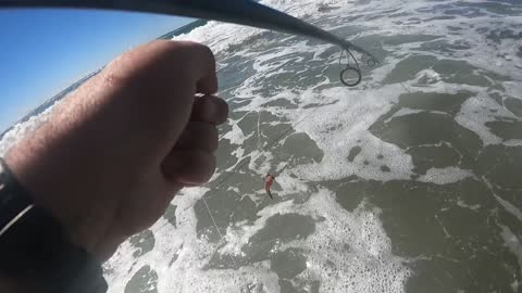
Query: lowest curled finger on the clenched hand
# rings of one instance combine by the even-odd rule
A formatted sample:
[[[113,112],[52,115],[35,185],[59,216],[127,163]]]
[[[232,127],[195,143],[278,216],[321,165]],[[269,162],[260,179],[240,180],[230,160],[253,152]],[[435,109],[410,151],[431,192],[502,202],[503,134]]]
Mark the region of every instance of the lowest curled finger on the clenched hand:
[[[215,157],[198,150],[174,150],[163,161],[166,180],[182,184],[202,184],[215,170]]]

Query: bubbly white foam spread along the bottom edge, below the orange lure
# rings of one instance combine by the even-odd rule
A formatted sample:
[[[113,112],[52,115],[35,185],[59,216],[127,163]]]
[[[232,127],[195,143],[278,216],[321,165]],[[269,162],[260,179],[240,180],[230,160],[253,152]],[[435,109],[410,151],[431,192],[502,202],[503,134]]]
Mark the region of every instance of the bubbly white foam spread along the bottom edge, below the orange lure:
[[[330,289],[326,290],[328,292],[401,292],[410,276],[402,259],[391,254],[390,242],[375,212],[361,208],[349,213],[325,189],[313,193],[304,204],[286,201],[261,209],[256,222],[228,227],[224,235],[226,244],[221,249],[213,246],[204,239],[196,238],[196,218],[191,208],[206,191],[202,188],[189,189],[183,196],[174,199],[177,228],[160,219],[152,227],[156,245],[151,252],[134,258],[135,249],[128,242],[120,247],[105,265],[110,269],[105,276],[111,283],[109,292],[123,292],[130,277],[146,265],[158,273],[159,292],[235,292],[256,286],[266,292],[278,292],[278,277],[270,270],[270,262],[237,270],[203,267],[214,253],[244,256],[241,249],[265,227],[270,217],[288,213],[325,218],[315,224],[316,232],[306,240],[291,241],[279,247],[299,247],[307,252],[309,265],[294,282],[302,284],[320,280],[321,288]],[[177,255],[177,260],[169,267],[169,260],[174,255]],[[335,271],[335,278],[331,277],[332,271]]]

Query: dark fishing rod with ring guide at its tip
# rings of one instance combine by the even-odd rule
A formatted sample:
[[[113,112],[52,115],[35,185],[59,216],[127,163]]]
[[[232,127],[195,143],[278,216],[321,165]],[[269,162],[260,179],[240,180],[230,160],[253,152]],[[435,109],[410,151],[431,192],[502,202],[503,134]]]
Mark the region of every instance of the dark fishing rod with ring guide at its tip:
[[[359,85],[362,77],[359,64],[350,50],[366,55],[368,64],[371,66],[377,63],[377,59],[363,48],[252,0],[0,0],[0,8],[72,8],[150,12],[214,20],[307,36],[339,46],[353,60],[356,66],[347,64],[340,74],[343,84],[349,87]],[[356,82],[345,80],[344,74],[349,71],[358,74]]]

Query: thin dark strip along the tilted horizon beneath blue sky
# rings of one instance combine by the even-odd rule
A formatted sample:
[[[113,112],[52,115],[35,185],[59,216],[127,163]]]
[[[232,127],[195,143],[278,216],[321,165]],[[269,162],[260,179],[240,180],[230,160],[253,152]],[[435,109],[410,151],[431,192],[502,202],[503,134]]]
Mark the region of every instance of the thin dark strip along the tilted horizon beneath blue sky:
[[[185,26],[182,26],[179,28],[176,28],[170,33],[166,33],[165,35],[162,35],[158,37],[157,39],[163,39],[163,40],[170,40],[175,36],[179,36],[183,34],[190,33],[192,29],[203,26],[208,23],[206,20],[198,20],[195,22],[191,22]],[[103,66],[104,67],[104,66]],[[55,102],[60,101],[63,97],[65,97],[67,93],[72,92],[73,90],[77,89],[79,86],[82,86],[85,81],[87,81],[89,78],[92,76],[97,75],[99,72],[103,69],[103,67],[88,74],[87,76],[83,77],[78,81],[74,82],[73,85],[69,86],[64,90],[60,91],[59,93],[54,94],[51,99],[45,101],[42,104],[37,106],[36,109],[32,110],[29,113],[27,113],[25,116],[23,116],[21,119],[16,120],[13,123],[10,127],[8,127],[0,135],[0,140],[3,139],[3,136],[9,132],[13,127],[17,124],[25,123],[27,122],[30,117],[38,115],[46,111],[46,109],[52,106]]]

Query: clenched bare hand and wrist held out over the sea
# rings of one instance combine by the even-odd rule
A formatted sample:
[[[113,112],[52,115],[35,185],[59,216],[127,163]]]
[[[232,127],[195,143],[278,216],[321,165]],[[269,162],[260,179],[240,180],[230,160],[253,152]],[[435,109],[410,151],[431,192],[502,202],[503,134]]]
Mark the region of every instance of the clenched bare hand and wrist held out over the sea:
[[[153,41],[65,98],[5,161],[73,242],[107,259],[213,174],[215,126],[228,113],[216,90],[210,49]]]

